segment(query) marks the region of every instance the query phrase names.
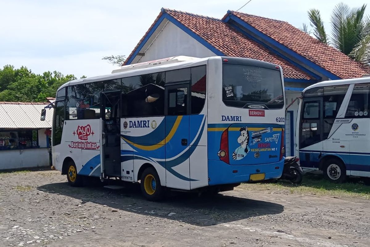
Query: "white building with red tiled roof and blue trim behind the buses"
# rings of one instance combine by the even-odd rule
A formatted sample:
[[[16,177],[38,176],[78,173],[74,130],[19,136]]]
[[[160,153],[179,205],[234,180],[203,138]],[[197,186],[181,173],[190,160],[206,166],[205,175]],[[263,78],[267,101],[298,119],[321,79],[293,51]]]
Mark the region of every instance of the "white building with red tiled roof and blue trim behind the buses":
[[[163,9],[124,65],[172,56],[247,57],[283,68],[286,103],[324,80],[362,77],[370,68],[286,21],[228,11],[217,19]],[[293,154],[297,102],[286,116],[286,148]],[[292,133],[292,134],[291,134]]]

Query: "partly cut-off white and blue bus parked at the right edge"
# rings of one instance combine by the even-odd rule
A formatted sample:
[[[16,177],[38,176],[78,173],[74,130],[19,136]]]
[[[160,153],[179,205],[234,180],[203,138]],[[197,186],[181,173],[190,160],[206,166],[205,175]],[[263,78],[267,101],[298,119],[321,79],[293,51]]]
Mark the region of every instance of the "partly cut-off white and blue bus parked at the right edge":
[[[316,83],[303,90],[297,117],[300,165],[343,182],[370,177],[370,77]]]

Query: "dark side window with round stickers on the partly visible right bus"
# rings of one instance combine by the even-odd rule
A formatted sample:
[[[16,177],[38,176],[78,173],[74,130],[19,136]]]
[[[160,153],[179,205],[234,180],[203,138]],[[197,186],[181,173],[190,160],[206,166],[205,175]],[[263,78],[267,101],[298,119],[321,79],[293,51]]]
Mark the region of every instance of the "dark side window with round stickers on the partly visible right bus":
[[[368,83],[354,85],[346,118],[369,118],[369,89]]]

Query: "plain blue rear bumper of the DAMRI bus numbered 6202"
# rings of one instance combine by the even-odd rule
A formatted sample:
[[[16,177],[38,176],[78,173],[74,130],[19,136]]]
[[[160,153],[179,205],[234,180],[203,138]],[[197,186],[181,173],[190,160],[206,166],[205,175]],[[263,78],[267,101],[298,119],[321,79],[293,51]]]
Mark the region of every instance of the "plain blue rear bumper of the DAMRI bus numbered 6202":
[[[280,178],[284,159],[276,163],[232,166],[221,160],[208,160],[208,184],[232,184],[250,181],[251,174],[264,173],[265,179]]]

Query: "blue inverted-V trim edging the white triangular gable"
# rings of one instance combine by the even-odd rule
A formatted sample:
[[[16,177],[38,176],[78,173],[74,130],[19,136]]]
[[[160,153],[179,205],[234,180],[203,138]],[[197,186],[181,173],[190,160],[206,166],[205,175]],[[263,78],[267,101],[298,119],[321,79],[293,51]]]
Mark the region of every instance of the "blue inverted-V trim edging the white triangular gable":
[[[207,41],[205,41],[204,39],[202,39],[201,37],[199,37],[193,31],[191,31],[190,29],[188,29],[187,27],[185,27],[182,23],[180,23],[174,17],[172,17],[169,14],[167,14],[166,11],[162,8],[162,16],[159,17],[159,19],[155,22],[154,26],[149,30],[149,32],[145,36],[144,40],[142,40],[141,43],[139,44],[139,46],[135,49],[135,51],[132,54],[132,56],[127,59],[126,65],[132,63],[132,61],[137,56],[137,54],[139,53],[139,51],[142,49],[142,47],[145,45],[145,43],[147,43],[147,41],[149,40],[149,38],[152,36],[152,34],[154,33],[154,31],[157,29],[157,27],[159,26],[159,24],[161,24],[161,22],[164,19],[167,19],[167,20],[171,21],[171,23],[175,24],[175,26],[177,26],[179,29],[181,29],[185,33],[189,34],[193,39],[195,39],[196,41],[198,41],[199,43],[201,43],[203,46],[205,46],[206,48],[208,48],[209,50],[211,50],[217,56],[225,56],[225,54],[223,54],[221,51],[219,51],[214,46],[212,46],[211,44],[209,44]]]

